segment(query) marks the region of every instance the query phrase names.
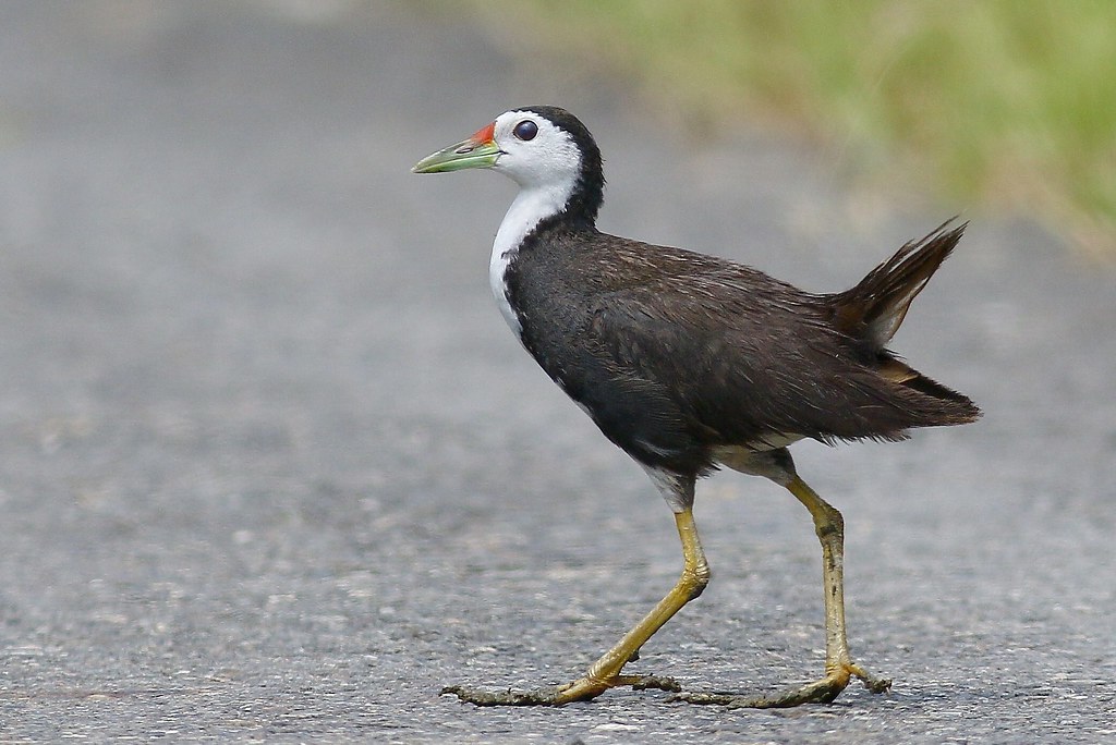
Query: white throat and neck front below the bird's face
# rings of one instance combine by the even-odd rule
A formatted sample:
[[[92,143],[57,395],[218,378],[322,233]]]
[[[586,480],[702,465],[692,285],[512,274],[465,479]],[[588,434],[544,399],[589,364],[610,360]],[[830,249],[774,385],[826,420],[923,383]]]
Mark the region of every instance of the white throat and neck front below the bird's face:
[[[519,252],[519,244],[528,233],[542,220],[561,212],[573,191],[573,181],[523,186],[508,209],[508,214],[503,216],[500,230],[497,231],[496,242],[492,243],[492,258],[489,261],[489,284],[492,287],[492,296],[500,307],[503,319],[508,321],[508,326],[517,337],[521,336],[522,327],[508,301],[508,283],[504,274]]]

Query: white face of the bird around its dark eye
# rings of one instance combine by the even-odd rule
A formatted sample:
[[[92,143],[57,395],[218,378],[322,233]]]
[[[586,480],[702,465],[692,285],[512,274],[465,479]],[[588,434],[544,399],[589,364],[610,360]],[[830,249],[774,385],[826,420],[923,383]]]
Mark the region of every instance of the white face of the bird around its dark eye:
[[[581,168],[574,139],[549,119],[531,112],[497,117],[493,139],[502,151],[494,171],[526,188],[556,188],[567,195]]]

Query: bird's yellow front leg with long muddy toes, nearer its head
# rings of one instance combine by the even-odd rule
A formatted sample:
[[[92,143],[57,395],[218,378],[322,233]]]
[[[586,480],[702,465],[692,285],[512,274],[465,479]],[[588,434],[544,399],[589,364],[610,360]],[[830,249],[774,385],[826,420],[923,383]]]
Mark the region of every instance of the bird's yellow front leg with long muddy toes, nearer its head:
[[[679,529],[679,538],[682,539],[682,557],[685,562],[682,577],[642,621],[636,623],[615,647],[593,664],[585,677],[556,688],[519,693],[511,690],[490,693],[461,686],[450,686],[444,688],[442,693],[456,694],[461,700],[478,706],[561,706],[570,702],[595,698],[608,688],[616,686],[679,690],[677,684],[670,678],[620,675],[624,666],[637,656],[639,648],[647,639],[684,604],[700,596],[705,586],[709,584],[709,564],[705,562],[705,553],[698,540],[693,512],[689,506],[684,507],[681,512],[675,513],[674,522]]]

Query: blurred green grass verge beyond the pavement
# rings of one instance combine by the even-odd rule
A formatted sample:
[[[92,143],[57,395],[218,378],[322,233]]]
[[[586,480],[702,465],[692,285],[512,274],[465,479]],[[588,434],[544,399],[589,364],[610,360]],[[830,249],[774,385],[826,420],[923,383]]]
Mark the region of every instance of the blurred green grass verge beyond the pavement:
[[[477,0],[690,123],[792,128],[882,185],[1116,257],[1116,2]],[[735,124],[734,126],[740,126]]]

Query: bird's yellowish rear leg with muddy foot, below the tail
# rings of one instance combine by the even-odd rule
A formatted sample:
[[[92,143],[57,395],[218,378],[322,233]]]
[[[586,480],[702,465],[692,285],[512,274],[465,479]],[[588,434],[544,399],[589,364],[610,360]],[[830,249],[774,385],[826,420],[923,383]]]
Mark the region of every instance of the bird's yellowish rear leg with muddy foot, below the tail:
[[[845,690],[849,679],[859,678],[874,694],[882,694],[892,681],[875,678],[853,662],[845,633],[845,521],[836,507],[822,500],[797,474],[783,484],[814,517],[814,530],[821,542],[821,580],[826,602],[826,674],[819,680],[771,696],[731,694],[683,694],[676,699],[692,704],[723,704],[732,707],[779,708],[800,704],[828,704]]]

